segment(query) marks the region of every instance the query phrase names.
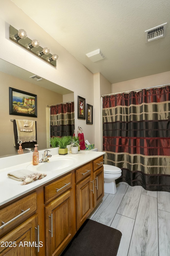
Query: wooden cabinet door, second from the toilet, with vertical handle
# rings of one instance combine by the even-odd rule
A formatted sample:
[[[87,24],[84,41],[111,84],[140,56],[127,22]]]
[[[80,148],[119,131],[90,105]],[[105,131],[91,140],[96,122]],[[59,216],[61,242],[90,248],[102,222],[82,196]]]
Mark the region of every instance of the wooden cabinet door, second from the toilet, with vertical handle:
[[[77,230],[93,210],[93,187],[91,175],[76,185]]]

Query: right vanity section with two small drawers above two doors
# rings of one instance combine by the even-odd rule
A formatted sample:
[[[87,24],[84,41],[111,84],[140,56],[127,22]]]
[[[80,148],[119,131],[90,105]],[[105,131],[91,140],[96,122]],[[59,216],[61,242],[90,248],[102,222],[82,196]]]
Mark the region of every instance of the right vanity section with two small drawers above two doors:
[[[75,173],[78,230],[104,196],[103,156],[77,169]]]

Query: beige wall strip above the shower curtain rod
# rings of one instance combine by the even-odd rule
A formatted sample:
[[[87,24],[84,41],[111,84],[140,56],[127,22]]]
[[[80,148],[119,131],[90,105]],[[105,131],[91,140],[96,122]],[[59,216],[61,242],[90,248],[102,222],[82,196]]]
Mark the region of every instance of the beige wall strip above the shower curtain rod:
[[[140,77],[120,83],[112,84],[112,93],[137,90],[146,87],[165,85],[170,83],[170,71],[147,77]]]

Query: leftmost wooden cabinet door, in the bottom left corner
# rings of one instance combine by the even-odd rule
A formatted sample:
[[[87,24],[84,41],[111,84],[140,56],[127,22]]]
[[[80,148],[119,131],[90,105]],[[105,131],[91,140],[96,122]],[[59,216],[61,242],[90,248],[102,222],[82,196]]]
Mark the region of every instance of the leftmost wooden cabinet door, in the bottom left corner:
[[[0,239],[0,255],[1,256],[37,256],[38,244],[43,244],[37,241],[37,215],[29,218],[13,231]]]

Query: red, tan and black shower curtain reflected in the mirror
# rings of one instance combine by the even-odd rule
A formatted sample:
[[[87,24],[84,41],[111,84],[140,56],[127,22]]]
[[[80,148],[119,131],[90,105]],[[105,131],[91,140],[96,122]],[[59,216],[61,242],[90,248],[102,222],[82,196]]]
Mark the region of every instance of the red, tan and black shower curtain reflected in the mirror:
[[[50,137],[73,136],[74,129],[74,102],[50,107]]]

